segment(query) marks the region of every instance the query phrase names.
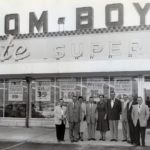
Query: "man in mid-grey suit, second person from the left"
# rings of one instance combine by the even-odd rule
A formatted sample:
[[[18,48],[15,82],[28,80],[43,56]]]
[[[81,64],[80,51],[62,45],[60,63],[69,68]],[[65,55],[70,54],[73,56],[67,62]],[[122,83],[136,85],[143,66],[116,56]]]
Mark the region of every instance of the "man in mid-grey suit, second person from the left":
[[[78,142],[79,123],[81,121],[82,112],[81,105],[77,101],[77,97],[72,97],[72,102],[67,106],[67,120],[69,122],[69,136],[71,142]]]

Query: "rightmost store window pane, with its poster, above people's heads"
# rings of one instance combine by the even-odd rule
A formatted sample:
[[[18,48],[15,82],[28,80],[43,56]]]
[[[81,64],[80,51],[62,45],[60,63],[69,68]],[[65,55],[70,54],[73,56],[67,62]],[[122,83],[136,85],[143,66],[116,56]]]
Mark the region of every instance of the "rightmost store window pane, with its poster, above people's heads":
[[[133,95],[134,99],[138,96],[138,77],[137,76],[111,76],[110,91],[115,91],[118,99],[123,98],[123,94]]]

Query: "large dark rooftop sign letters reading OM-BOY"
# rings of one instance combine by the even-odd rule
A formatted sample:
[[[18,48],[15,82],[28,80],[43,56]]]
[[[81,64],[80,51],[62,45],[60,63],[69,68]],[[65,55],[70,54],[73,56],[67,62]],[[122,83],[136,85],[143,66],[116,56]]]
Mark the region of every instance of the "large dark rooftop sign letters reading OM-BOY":
[[[150,3],[145,3],[144,8],[139,3],[133,3],[133,11],[139,18],[140,24],[145,25],[145,18],[149,12]],[[120,27],[124,23],[124,5],[122,3],[107,4],[105,7],[105,24],[107,27]],[[112,19],[113,11],[118,12],[116,21]],[[61,17],[61,16],[60,16]],[[130,17],[130,16],[129,16]],[[20,32],[20,16],[17,13],[5,15],[5,34],[18,34]],[[64,18],[58,18],[58,24],[64,24]],[[92,7],[76,8],[76,30],[91,29],[94,22],[94,9]],[[14,20],[14,29],[10,29],[10,20]],[[48,32],[48,11],[43,11],[38,18],[35,12],[29,13],[29,33],[34,32],[34,27],[40,32],[43,27],[43,32]]]

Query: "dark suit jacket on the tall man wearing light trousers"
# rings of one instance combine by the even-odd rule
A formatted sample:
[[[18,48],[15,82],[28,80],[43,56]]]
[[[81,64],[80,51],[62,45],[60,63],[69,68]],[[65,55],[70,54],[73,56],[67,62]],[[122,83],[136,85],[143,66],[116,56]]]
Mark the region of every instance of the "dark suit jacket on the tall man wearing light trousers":
[[[111,108],[111,99],[107,100],[107,115],[108,120],[120,120],[120,113],[121,113],[121,101],[115,99],[115,103],[113,108]]]

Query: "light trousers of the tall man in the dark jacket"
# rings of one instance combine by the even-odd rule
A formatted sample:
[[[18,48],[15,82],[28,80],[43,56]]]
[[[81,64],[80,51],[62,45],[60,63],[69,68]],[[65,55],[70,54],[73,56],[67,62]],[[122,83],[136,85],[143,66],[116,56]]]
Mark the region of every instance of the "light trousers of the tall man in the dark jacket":
[[[111,139],[118,139],[118,120],[109,120]]]

